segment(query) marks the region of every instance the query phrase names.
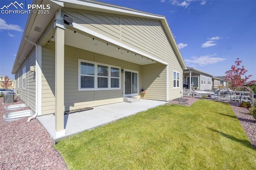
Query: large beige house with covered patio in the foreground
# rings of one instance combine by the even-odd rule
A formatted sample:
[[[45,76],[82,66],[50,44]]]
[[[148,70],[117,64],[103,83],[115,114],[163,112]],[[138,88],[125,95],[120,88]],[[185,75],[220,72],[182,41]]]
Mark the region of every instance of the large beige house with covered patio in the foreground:
[[[28,16],[12,73],[38,116],[122,102],[182,96],[186,65],[164,16],[91,0],[33,0],[49,14]],[[65,20],[65,21],[64,21]]]

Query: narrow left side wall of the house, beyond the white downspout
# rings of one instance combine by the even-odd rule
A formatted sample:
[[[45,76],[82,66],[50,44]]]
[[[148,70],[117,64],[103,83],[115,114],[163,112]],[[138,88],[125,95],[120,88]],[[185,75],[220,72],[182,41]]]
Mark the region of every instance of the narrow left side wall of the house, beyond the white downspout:
[[[36,73],[30,71],[30,66],[36,65],[36,48],[34,47],[26,60],[22,63],[18,72],[15,75],[16,80],[16,94],[20,94],[20,99],[30,107],[30,109],[36,111]],[[22,68],[26,66],[26,89],[22,88]],[[18,78],[19,76],[19,78]]]

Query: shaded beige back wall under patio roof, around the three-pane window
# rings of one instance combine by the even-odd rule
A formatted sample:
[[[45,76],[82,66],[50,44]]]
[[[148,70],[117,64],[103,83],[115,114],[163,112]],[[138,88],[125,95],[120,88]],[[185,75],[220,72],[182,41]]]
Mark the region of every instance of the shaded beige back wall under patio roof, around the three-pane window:
[[[42,47],[42,115],[55,112],[55,54],[54,42]],[[123,101],[124,74],[121,72],[121,89],[78,91],[78,59],[116,65],[121,69],[138,71],[139,86],[142,89],[142,66],[65,45],[64,56],[64,105],[65,110],[94,107]],[[137,95],[136,97],[139,97]]]

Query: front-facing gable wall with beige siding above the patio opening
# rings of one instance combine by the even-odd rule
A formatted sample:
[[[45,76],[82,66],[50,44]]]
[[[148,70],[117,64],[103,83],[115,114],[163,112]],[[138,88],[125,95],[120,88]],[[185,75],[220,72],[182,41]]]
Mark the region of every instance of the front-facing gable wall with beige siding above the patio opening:
[[[182,96],[182,67],[160,21],[74,9],[64,9],[62,15],[64,14],[86,28],[168,62],[168,99]],[[173,88],[173,71],[180,73],[180,88]],[[166,91],[166,87],[162,89],[164,90]],[[162,100],[163,97],[160,98]]]

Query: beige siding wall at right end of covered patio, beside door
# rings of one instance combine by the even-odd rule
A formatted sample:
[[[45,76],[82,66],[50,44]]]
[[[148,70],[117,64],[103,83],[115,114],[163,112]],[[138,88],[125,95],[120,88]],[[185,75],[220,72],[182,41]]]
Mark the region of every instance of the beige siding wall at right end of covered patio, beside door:
[[[142,66],[142,89],[146,99],[166,101],[166,67],[158,64]]]

